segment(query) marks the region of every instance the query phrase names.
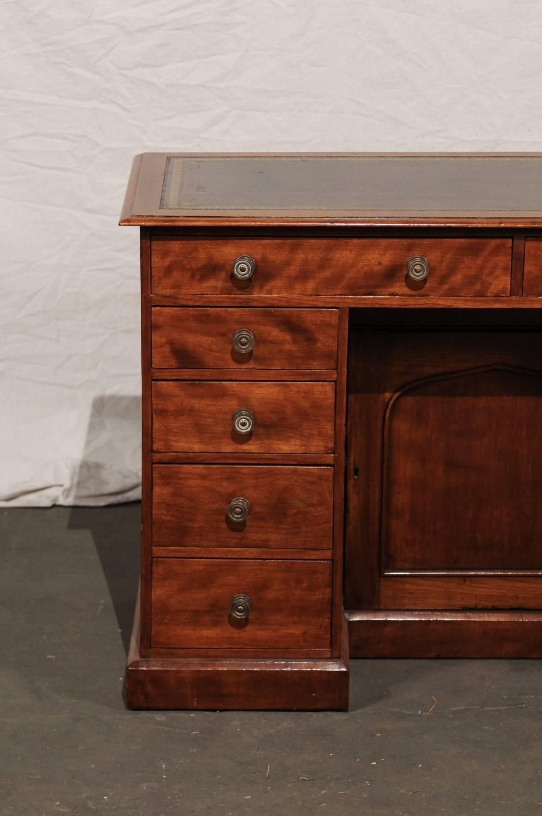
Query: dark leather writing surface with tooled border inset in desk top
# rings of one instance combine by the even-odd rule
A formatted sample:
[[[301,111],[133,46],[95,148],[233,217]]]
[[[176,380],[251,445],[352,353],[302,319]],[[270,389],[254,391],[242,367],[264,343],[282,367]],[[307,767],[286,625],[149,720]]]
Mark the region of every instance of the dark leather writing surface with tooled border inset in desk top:
[[[540,157],[168,157],[160,209],[540,211]]]

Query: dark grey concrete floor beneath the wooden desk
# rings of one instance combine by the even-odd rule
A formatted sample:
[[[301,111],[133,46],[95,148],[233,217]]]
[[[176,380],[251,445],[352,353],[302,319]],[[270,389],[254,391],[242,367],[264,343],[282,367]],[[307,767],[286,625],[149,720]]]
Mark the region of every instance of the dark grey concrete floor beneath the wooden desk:
[[[2,816],[540,813],[536,661],[354,661],[348,713],[127,711],[139,512],[0,511]]]

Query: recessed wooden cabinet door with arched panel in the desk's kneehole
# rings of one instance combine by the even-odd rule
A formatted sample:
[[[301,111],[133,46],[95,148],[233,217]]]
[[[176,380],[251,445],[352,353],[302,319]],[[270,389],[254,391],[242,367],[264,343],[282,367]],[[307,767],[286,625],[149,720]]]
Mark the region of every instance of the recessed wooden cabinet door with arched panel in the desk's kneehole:
[[[345,606],[542,607],[542,335],[351,338]]]

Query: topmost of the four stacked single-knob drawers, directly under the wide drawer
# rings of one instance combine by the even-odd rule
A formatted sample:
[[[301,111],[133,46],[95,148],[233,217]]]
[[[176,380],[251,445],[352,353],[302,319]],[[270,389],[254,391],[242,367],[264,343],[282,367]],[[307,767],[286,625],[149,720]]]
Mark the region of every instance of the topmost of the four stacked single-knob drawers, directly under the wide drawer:
[[[155,368],[337,365],[336,309],[158,307],[152,322]]]

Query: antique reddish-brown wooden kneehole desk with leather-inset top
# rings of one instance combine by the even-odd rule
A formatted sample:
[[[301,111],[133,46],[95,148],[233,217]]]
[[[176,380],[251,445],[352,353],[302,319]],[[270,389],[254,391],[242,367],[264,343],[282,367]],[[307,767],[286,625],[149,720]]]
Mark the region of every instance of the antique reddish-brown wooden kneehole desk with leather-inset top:
[[[136,157],[135,708],[542,653],[542,154]]]

